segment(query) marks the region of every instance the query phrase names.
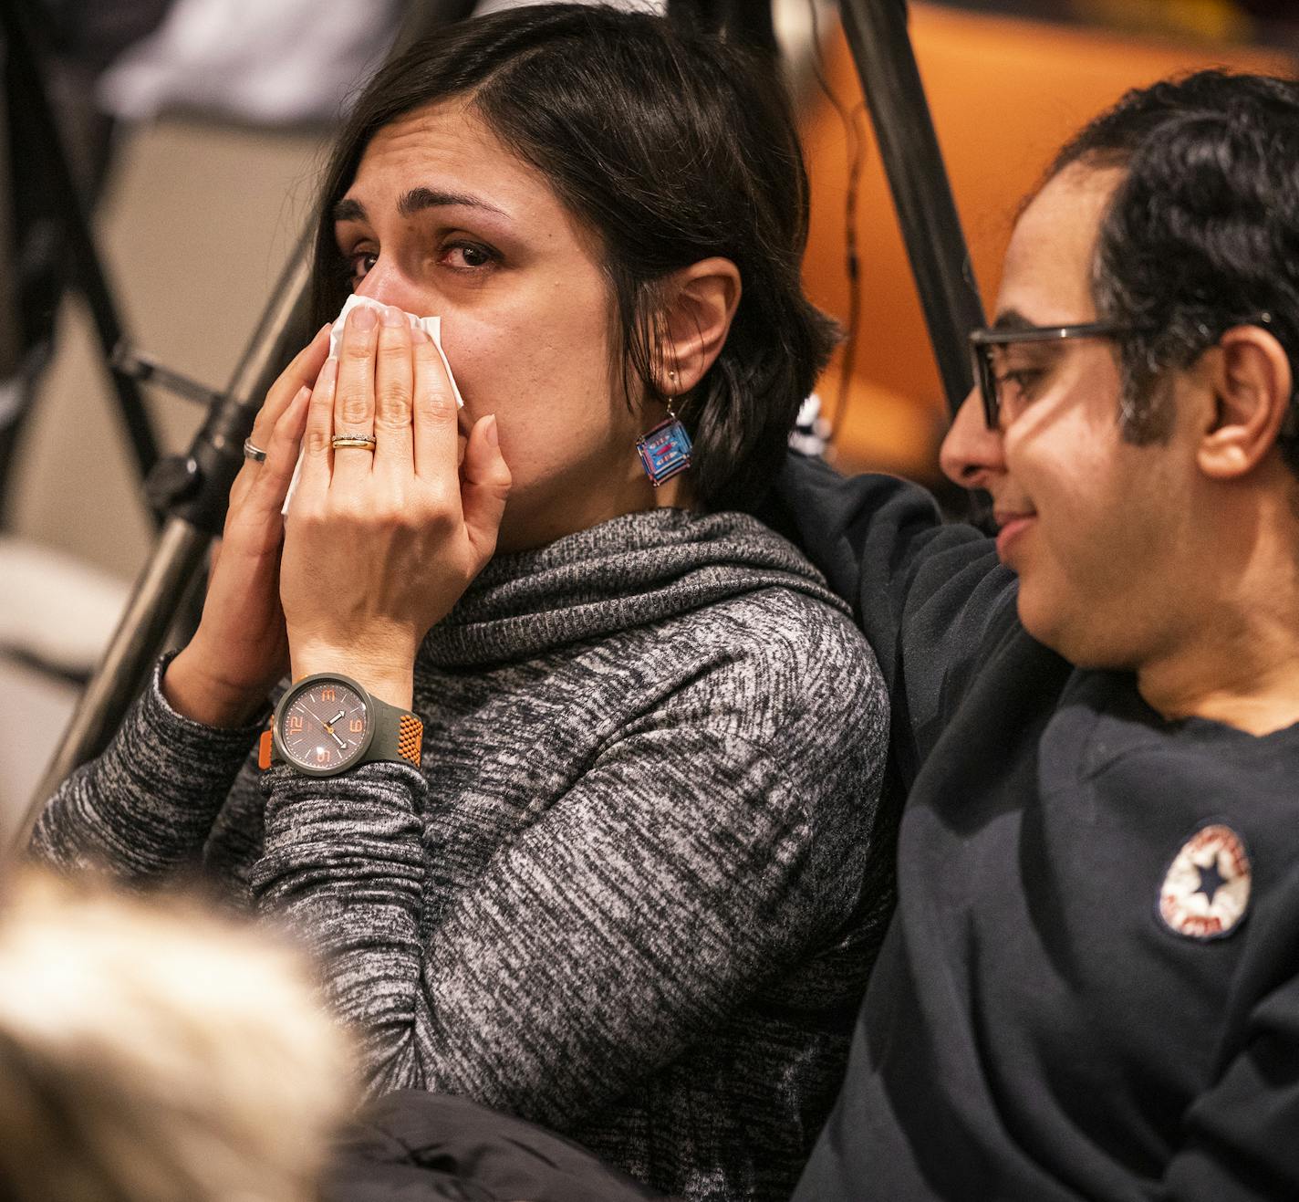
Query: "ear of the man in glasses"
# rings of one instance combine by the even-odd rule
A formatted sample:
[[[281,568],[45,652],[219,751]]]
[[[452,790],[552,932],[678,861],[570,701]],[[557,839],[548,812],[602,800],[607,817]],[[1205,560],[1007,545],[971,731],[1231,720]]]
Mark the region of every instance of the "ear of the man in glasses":
[[[1246,476],[1277,441],[1290,408],[1290,360],[1261,326],[1233,326],[1218,340],[1211,366],[1212,425],[1200,435],[1196,461],[1205,476]]]

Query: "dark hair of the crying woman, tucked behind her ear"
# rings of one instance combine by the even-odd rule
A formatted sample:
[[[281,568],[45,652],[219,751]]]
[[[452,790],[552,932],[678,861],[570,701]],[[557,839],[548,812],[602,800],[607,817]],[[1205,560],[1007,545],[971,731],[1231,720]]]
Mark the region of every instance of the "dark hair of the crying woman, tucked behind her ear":
[[[513,9],[416,43],[375,75],[338,138],[317,213],[317,322],[347,294],[331,211],[365,147],[451,97],[466,97],[599,234],[629,403],[633,382],[664,400],[662,278],[713,255],[739,268],[726,344],[675,408],[695,443],[699,500],[752,509],[834,343],[833,324],[803,296],[808,183],[777,64],[598,5]]]

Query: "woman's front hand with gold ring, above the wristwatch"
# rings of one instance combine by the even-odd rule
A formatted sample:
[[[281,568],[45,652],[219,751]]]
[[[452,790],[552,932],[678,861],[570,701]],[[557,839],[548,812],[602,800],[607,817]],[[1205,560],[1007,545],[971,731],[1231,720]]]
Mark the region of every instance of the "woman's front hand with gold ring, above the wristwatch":
[[[330,438],[372,434],[373,451]],[[496,418],[461,461],[438,350],[404,314],[357,308],[312,392],[281,598],[294,680],[343,672],[408,707],[416,651],[496,548],[509,469]]]

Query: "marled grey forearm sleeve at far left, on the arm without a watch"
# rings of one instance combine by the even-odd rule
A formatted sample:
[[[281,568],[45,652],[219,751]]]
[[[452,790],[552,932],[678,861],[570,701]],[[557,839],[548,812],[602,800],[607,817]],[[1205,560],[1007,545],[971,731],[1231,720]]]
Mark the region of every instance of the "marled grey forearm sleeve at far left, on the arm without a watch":
[[[162,697],[169,661],[158,661],[104,754],[45,804],[32,859],[132,881],[197,862],[261,728],[217,729],[177,713]]]

